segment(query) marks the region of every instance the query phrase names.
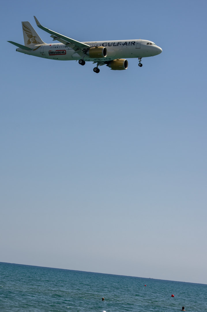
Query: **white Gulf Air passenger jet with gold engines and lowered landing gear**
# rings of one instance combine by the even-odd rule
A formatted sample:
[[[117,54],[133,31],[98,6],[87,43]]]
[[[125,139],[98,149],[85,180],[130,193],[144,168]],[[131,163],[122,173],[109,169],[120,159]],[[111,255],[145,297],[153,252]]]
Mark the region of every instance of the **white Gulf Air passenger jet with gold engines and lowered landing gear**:
[[[45,43],[29,22],[21,22],[25,45],[8,41],[18,47],[17,52],[51,60],[76,60],[80,65],[92,61],[96,64],[93,68],[95,73],[100,72],[98,66],[102,65],[111,70],[125,70],[128,68],[126,58],[138,58],[138,65],[142,67],[143,57],[155,56],[162,52],[153,41],[141,39],[80,42],[42,26],[35,16],[34,18],[39,28],[51,34],[53,41],[59,42]]]

